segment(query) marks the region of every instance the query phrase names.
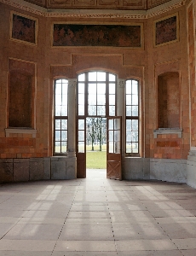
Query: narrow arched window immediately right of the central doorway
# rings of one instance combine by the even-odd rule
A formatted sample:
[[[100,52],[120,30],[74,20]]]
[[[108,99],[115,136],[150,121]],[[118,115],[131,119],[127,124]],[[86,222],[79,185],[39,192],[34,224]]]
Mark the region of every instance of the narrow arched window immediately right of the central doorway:
[[[139,154],[139,83],[127,80],[126,91],[126,153]]]

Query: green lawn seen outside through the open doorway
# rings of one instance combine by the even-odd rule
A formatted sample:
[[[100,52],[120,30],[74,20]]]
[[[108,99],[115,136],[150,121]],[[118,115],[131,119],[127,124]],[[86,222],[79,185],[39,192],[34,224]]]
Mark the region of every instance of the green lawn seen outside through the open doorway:
[[[91,146],[86,146],[86,168],[87,169],[106,169],[107,168],[107,146],[103,145],[99,151],[99,145],[94,146],[95,151],[91,151]]]

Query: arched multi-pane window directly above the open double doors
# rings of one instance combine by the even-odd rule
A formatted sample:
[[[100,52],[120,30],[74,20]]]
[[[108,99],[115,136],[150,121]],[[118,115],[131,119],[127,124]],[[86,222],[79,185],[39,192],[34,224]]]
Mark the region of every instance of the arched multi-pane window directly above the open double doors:
[[[78,115],[116,115],[116,80],[116,75],[107,72],[79,74]]]

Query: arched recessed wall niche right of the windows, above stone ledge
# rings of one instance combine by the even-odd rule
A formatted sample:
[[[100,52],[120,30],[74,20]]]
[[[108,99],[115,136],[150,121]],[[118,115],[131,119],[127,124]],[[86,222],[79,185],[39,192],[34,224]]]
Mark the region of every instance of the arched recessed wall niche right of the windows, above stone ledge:
[[[158,127],[180,128],[179,73],[163,73],[158,77]]]

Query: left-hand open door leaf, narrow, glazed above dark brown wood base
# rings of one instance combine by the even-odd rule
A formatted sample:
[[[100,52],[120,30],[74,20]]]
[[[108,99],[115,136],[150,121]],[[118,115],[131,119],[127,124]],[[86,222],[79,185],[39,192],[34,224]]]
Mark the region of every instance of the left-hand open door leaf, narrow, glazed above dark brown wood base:
[[[86,177],[86,119],[78,119],[77,134],[77,177]]]

